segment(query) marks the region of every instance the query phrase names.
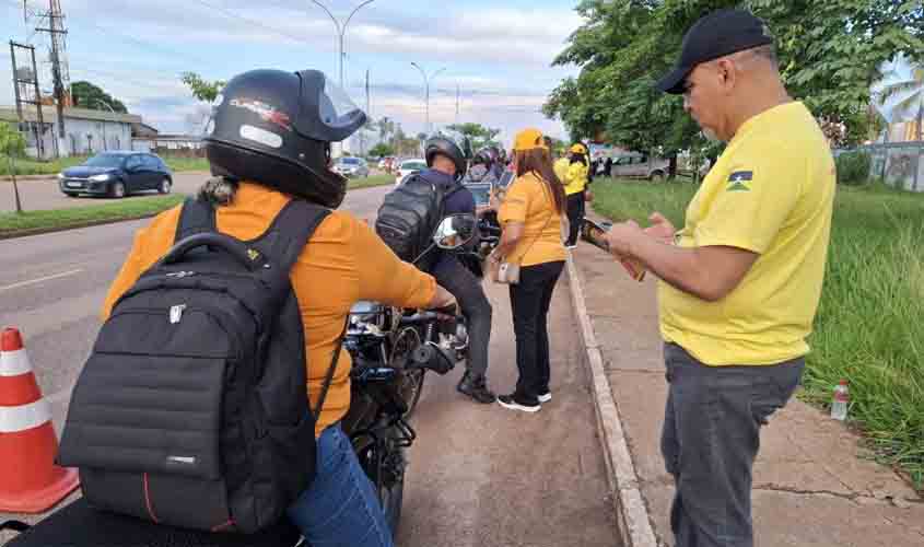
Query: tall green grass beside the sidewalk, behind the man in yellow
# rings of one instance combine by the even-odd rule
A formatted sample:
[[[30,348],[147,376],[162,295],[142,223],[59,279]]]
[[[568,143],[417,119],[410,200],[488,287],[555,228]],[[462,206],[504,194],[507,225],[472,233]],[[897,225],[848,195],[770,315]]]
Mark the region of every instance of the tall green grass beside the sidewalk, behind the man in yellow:
[[[682,225],[690,183],[600,181],[594,209],[647,225],[658,210]],[[838,187],[824,289],[802,397],[827,408],[850,381],[852,426],[881,463],[924,489],[924,195]]]

